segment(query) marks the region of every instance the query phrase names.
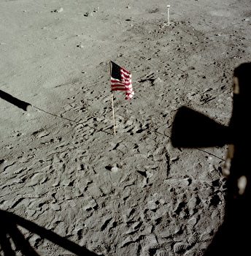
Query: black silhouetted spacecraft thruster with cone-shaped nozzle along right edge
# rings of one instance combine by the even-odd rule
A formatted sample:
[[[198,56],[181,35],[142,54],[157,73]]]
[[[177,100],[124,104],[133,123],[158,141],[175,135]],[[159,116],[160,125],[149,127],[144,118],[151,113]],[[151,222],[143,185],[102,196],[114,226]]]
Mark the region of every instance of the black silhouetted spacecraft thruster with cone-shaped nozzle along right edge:
[[[228,127],[195,110],[182,107],[174,117],[171,143],[196,148],[228,145],[223,175],[226,178],[225,217],[205,256],[248,255],[251,227],[250,80],[251,62],[233,72],[233,110]]]

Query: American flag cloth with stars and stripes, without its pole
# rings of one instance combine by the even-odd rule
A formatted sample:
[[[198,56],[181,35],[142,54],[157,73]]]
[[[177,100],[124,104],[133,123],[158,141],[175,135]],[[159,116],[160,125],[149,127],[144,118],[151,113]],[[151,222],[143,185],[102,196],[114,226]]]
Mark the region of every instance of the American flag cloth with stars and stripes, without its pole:
[[[131,72],[118,66],[113,61],[111,61],[111,86],[112,91],[125,91],[125,99],[134,97]]]

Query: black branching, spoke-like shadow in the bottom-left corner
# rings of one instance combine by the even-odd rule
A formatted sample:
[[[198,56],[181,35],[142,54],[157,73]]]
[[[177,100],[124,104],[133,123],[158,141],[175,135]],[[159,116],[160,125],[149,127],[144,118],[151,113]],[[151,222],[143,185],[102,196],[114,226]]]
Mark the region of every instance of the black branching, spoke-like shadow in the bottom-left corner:
[[[4,256],[15,256],[15,251],[12,249],[9,242],[9,237],[12,238],[16,248],[22,252],[24,256],[37,256],[39,255],[32,246],[28,243],[23,234],[18,230],[18,225],[26,228],[31,233],[36,233],[41,238],[45,238],[53,244],[57,244],[62,248],[68,250],[69,252],[74,253],[75,255],[86,255],[86,256],[95,256],[94,252],[90,252],[85,247],[79,246],[74,242],[58,236],[56,233],[53,233],[51,230],[45,229],[45,227],[40,227],[34,222],[23,219],[18,215],[9,213],[7,211],[0,210],[0,245],[1,250],[4,252]]]

